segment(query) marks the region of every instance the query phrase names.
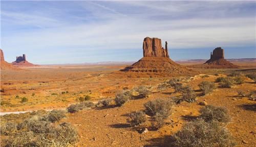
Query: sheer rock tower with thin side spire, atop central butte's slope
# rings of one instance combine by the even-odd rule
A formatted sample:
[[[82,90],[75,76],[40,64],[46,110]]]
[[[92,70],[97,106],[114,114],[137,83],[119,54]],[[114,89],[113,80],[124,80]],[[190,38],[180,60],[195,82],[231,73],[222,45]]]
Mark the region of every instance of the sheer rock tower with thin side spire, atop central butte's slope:
[[[165,49],[162,47],[161,39],[146,37],[143,41],[143,57],[167,57],[167,41],[165,41]]]

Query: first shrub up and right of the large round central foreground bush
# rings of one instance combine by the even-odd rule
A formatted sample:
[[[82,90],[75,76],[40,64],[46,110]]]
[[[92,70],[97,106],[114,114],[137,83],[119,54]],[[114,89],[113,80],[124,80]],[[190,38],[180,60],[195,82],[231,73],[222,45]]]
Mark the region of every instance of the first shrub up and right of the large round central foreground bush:
[[[182,101],[186,101],[189,103],[196,102],[197,94],[196,92],[190,87],[186,86],[182,90]]]

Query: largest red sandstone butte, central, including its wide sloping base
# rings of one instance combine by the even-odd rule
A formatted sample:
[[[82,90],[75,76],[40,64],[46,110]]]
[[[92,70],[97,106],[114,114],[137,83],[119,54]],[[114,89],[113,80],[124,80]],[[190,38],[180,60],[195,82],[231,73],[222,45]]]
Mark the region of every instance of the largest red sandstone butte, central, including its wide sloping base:
[[[167,41],[163,48],[161,39],[150,37],[143,40],[143,58],[120,71],[159,76],[192,75],[194,73],[169,58]]]

